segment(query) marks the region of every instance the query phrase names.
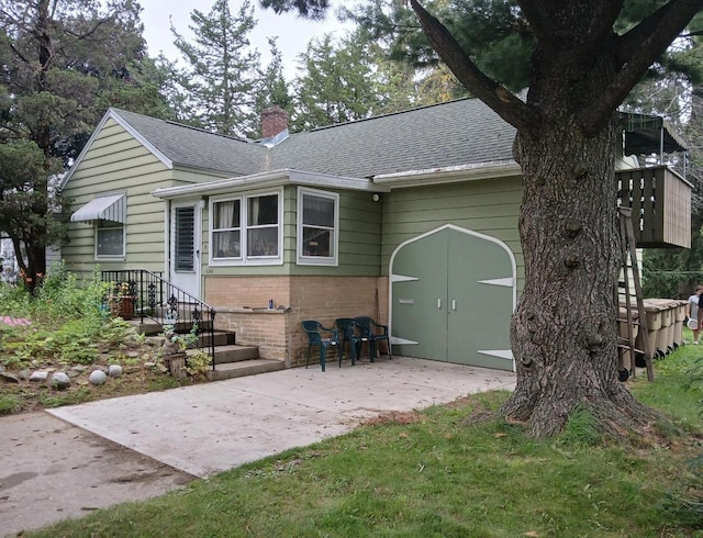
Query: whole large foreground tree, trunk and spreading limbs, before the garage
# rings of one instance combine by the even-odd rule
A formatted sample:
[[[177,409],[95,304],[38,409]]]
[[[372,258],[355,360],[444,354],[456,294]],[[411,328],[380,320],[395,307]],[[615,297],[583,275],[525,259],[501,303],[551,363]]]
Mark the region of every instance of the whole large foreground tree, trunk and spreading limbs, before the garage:
[[[510,16],[511,34],[528,36],[525,101],[491,64],[481,69],[480,44],[447,29],[456,20],[445,25],[410,1],[457,79],[517,130],[525,287],[511,324],[517,383],[502,413],[536,436],[558,433],[576,408],[613,436],[644,434],[654,419],[617,379],[616,110],[703,2],[638,1],[645,14],[617,32],[624,0],[454,2],[462,19],[489,16],[481,9],[490,3]],[[271,3],[291,9],[290,0]]]

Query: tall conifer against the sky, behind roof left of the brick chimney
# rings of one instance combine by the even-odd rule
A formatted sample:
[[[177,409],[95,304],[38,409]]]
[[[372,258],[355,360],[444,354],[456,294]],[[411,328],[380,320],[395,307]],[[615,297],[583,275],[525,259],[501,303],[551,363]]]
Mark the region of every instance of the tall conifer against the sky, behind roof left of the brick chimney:
[[[216,0],[210,13],[193,10],[190,19],[194,43],[171,26],[186,64],[175,69],[179,120],[232,136],[258,132],[263,74],[260,54],[248,37],[256,27],[254,7],[245,0],[233,15],[227,0]]]

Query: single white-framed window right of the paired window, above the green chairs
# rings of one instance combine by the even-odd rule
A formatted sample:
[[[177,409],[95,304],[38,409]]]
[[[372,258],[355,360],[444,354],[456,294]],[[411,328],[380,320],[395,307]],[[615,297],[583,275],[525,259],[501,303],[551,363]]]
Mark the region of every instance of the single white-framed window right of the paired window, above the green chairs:
[[[339,195],[298,190],[298,264],[337,265]]]

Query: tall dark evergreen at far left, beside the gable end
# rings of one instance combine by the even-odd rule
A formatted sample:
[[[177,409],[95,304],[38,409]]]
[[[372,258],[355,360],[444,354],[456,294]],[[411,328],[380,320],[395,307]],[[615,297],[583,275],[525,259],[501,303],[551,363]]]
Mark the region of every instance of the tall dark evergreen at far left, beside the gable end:
[[[23,243],[15,253],[30,288],[46,271],[46,245],[58,235],[48,215],[49,177],[80,152],[108,102],[158,109],[157,87],[141,71],[153,65],[140,9],[132,0],[0,0],[0,142],[15,157],[26,150],[33,161],[38,150],[44,159],[43,173],[32,168],[1,189],[7,202],[15,186],[24,208],[0,213],[0,228],[22,229],[12,239]],[[11,221],[20,216],[22,226]]]

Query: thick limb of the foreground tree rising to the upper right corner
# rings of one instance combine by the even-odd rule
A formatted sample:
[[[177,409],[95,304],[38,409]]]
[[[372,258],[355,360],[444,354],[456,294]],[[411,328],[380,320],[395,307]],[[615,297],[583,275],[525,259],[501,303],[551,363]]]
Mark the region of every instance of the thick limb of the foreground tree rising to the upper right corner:
[[[649,66],[702,10],[703,0],[670,0],[616,41],[620,72],[582,119],[587,132],[595,132],[609,121]]]

